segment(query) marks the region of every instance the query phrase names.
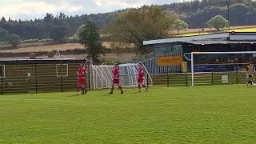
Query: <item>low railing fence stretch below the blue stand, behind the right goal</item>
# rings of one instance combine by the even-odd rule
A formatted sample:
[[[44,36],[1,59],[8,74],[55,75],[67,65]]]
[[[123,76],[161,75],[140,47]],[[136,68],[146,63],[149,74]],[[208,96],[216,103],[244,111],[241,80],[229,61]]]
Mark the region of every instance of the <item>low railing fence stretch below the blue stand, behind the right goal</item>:
[[[151,74],[154,86],[191,86],[191,73]],[[245,84],[246,72],[203,72],[194,73],[194,86]]]

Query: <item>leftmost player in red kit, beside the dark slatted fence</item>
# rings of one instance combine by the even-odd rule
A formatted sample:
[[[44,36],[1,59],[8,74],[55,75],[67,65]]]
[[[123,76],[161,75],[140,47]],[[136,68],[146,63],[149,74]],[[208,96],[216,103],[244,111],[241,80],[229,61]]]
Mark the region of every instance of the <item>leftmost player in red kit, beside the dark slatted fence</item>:
[[[82,94],[86,94],[86,67],[83,64],[80,64],[78,68],[78,87],[77,92],[82,90]]]

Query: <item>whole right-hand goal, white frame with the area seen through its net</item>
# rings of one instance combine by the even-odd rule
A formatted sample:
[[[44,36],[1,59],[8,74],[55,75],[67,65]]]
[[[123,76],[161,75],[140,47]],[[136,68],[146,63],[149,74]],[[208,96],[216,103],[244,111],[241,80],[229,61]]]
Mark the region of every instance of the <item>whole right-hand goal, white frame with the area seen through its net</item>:
[[[246,66],[256,62],[256,51],[192,52],[184,55],[190,61],[191,86],[245,83]]]

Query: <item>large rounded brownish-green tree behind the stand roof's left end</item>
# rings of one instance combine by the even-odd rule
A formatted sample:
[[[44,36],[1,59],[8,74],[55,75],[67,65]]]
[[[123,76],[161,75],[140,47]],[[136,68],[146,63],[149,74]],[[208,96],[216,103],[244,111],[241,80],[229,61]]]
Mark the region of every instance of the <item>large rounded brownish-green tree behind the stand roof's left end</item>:
[[[166,38],[173,30],[176,17],[169,16],[158,6],[126,10],[108,26],[106,33],[119,42],[134,43],[142,48],[142,42],[154,38]],[[145,50],[140,49],[142,52]]]

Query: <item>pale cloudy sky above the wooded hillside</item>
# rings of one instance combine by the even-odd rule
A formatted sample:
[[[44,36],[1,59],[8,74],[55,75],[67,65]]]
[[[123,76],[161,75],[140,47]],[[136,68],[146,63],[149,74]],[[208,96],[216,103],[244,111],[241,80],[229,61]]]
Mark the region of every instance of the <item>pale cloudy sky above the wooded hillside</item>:
[[[188,0],[0,0],[0,17],[30,20],[54,15],[98,14],[151,4],[170,4]]]

